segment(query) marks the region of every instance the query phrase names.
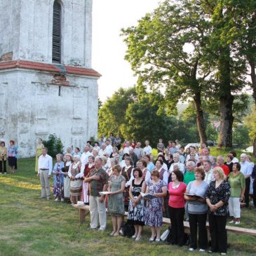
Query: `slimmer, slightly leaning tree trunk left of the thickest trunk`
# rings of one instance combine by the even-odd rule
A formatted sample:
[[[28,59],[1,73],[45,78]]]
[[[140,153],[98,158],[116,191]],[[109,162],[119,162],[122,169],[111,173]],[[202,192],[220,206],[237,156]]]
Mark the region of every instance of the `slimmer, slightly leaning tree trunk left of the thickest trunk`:
[[[196,125],[198,129],[199,137],[200,137],[200,144],[202,146],[202,143],[206,142],[207,136],[206,136],[206,127],[203,119],[201,93],[196,93],[193,99],[194,99],[194,106],[196,108]]]

